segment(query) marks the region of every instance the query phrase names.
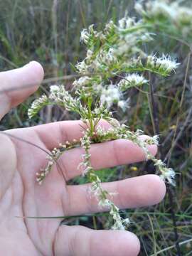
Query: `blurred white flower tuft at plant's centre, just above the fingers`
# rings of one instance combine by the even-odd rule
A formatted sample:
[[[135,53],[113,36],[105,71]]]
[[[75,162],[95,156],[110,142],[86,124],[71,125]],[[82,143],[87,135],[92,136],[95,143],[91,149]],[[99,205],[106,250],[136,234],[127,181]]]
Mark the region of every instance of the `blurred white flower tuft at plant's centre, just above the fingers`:
[[[121,93],[115,85],[109,85],[107,88],[103,87],[101,91],[101,104],[107,103],[107,108],[110,108],[114,102],[120,100]]]

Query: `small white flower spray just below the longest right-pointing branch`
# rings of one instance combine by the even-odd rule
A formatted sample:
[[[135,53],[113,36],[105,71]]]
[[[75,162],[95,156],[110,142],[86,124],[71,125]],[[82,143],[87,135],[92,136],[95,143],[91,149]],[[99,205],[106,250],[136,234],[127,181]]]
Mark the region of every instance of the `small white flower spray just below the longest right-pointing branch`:
[[[130,74],[126,75],[122,80],[119,81],[118,87],[119,90],[124,91],[130,87],[144,85],[146,82],[148,82],[148,80],[146,80],[143,75]]]

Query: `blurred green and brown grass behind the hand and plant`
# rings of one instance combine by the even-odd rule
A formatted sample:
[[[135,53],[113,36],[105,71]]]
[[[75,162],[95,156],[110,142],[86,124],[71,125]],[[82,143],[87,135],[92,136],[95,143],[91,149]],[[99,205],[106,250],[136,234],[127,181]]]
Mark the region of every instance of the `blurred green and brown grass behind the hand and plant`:
[[[190,1],[183,1],[183,4],[188,3]],[[75,78],[73,65],[85,54],[79,42],[82,28],[92,23],[98,29],[102,28],[111,18],[114,21],[122,18],[125,10],[134,15],[134,1],[0,0],[0,70],[38,60],[46,73],[41,90],[7,114],[0,129],[74,119],[65,111],[47,107],[39,118],[29,122],[28,105],[55,82],[65,83],[70,90]],[[127,95],[131,99],[130,108],[125,114],[115,112],[115,115],[118,119],[127,120],[132,129],[161,135],[159,156],[176,170],[177,186],[169,189],[159,206],[129,209],[122,214],[129,214],[133,221],[130,230],[142,242],[140,255],[187,256],[192,255],[192,243],[186,242],[192,238],[192,42],[157,33],[150,47],[146,51],[171,53],[181,63],[180,67],[169,78],[152,78],[155,109],[151,109],[150,88],[143,87],[139,91],[130,90]],[[154,167],[147,162],[101,170],[100,176],[102,181],[114,181],[154,172]],[[76,178],[73,182],[84,183],[85,180]],[[80,216],[64,222],[97,229],[107,228],[110,224],[107,214]],[[178,248],[176,241],[184,243]],[[161,250],[164,251],[158,253]]]

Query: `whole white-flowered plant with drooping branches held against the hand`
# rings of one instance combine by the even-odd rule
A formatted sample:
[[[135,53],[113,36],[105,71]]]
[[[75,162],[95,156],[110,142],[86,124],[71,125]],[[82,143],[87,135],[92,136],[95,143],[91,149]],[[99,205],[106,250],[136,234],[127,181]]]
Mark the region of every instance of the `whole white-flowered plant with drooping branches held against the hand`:
[[[158,2],[153,3],[158,5]],[[91,165],[91,144],[129,139],[143,149],[146,159],[154,162],[161,178],[174,185],[174,170],[167,168],[164,162],[156,159],[147,148],[149,144],[159,144],[159,137],[154,135],[142,141],[139,139],[142,130],[132,132],[127,125],[112,118],[110,111],[112,105],[117,105],[123,111],[127,109],[129,99],[124,99],[124,92],[131,87],[147,85],[149,80],[144,77],[146,72],[166,77],[179,65],[169,55],[162,54],[158,57],[154,53],[148,55],[144,51],[144,43],[154,40],[156,17],[164,16],[158,21],[160,27],[164,25],[165,19],[172,21],[171,26],[176,26],[170,11],[162,11],[162,8],[169,10],[166,1],[161,1],[161,9],[157,8],[156,12],[156,5],[150,3],[151,1],[146,4],[146,9],[142,4],[136,4],[137,11],[143,15],[143,19],[139,21],[124,16],[118,25],[110,21],[102,31],[96,31],[94,25],[83,29],[80,42],[85,43],[87,53],[85,59],[76,65],[80,78],[73,82],[73,92],[66,91],[64,85],[52,85],[50,94],[35,100],[28,110],[30,118],[46,105],[59,105],[65,110],[79,114],[85,124],[82,138],[80,141],[73,140],[65,144],[61,142],[58,148],[53,149],[48,156],[47,166],[37,173],[37,181],[39,184],[43,182],[55,161],[61,154],[65,154],[66,150],[82,146],[85,149],[80,164],[82,175],[89,179],[90,190],[97,197],[99,206],[110,211],[114,220],[113,229],[123,230],[129,224],[129,219],[122,219],[119,208],[111,200],[113,195],[102,188],[101,180]],[[176,6],[174,8],[176,9]],[[100,126],[101,119],[110,124],[110,129],[106,130]]]

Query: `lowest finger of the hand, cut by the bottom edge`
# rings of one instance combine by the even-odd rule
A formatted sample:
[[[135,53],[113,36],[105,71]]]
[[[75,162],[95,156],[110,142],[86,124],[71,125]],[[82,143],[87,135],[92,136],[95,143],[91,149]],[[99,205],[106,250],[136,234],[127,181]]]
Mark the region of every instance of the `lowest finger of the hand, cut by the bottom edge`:
[[[58,256],[136,256],[139,250],[137,236],[128,231],[66,225],[58,228],[53,246]]]

